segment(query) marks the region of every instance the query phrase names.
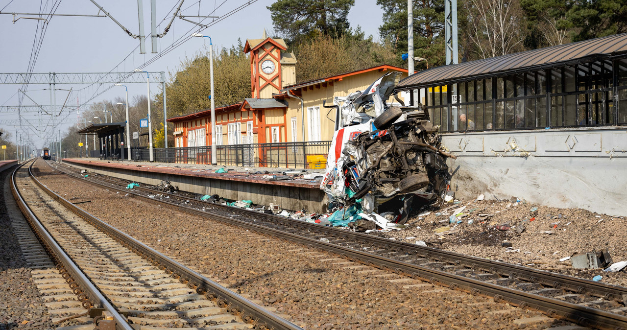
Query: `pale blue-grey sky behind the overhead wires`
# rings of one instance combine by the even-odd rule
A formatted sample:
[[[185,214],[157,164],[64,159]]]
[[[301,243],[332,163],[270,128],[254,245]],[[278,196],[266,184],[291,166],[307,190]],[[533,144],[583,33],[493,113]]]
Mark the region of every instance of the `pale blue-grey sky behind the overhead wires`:
[[[130,0],[93,0],[107,11],[113,18],[125,26],[130,33],[139,34],[139,19],[137,2]],[[142,0],[144,8],[144,31],[150,33],[150,1]],[[0,75],[2,73],[24,73],[29,67],[33,73],[100,73],[100,72],[130,72],[142,66],[142,70],[150,72],[169,72],[177,70],[182,59],[192,57],[199,51],[204,51],[209,44],[208,38],[190,38],[176,48],[171,45],[177,40],[191,33],[202,33],[211,36],[214,49],[230,47],[241,38],[261,38],[263,29],[269,34],[273,31],[270,11],[271,0],[187,0],[181,7],[184,16],[219,16],[206,18],[203,24],[211,24],[202,28],[182,19],[174,19],[172,27],[166,36],[158,39],[157,54],[151,53],[150,39],[145,42],[146,53],[139,53],[139,41],[126,34],[122,28],[108,17],[75,17],[53,16],[49,21],[36,19],[22,19],[24,17],[38,17],[33,15],[0,14]],[[356,0],[356,5],[350,9],[349,23],[352,28],[361,26],[366,36],[379,38],[379,26],[382,24],[382,11],[376,0]],[[179,0],[157,1],[157,33],[163,33],[164,28],[172,18],[172,13]],[[250,4],[249,4],[250,3]],[[87,14],[102,15],[102,11],[92,0],[0,0],[0,13],[50,13],[55,8],[55,14]],[[241,8],[231,14],[234,9]],[[14,18],[20,18],[13,22]],[[199,18],[187,18],[194,21]],[[46,26],[45,30],[42,29]],[[41,38],[42,31],[43,38]],[[41,43],[40,43],[41,40]],[[36,60],[34,49],[38,48]],[[150,61],[147,66],[144,63]],[[34,63],[34,64],[33,64]],[[219,83],[216,81],[216,83]],[[67,98],[71,105],[96,103],[103,100],[112,100],[115,97],[124,98],[123,87],[113,87],[100,94],[105,88],[96,86],[85,88],[87,85],[56,85],[54,97],[60,105]],[[107,85],[108,86],[108,85]],[[145,84],[128,84],[129,100],[135,95],[145,95]],[[68,91],[73,93],[68,98]],[[25,90],[26,96],[19,90]],[[80,90],[80,91],[78,91]],[[151,95],[161,91],[161,86],[152,84]],[[100,94],[100,95],[98,95]],[[39,117],[34,113],[23,113],[23,120],[28,121],[22,127],[7,125],[3,120],[17,119],[16,110],[6,106],[19,105],[50,105],[50,90],[48,85],[0,85],[0,128],[9,130],[14,135],[28,135],[36,148],[45,147],[50,140],[50,128],[39,130]],[[32,100],[30,100],[32,99]],[[90,100],[92,99],[92,100]],[[129,101],[132,102],[132,101]],[[46,107],[44,107],[46,108]],[[32,110],[31,110],[32,111]],[[48,121],[50,116],[47,116]],[[78,113],[65,110],[60,117],[61,132],[76,123]],[[120,118],[121,119],[121,118]],[[117,118],[113,118],[118,121]],[[83,119],[81,119],[83,121]],[[58,122],[58,119],[57,119]],[[46,125],[43,125],[46,126]]]

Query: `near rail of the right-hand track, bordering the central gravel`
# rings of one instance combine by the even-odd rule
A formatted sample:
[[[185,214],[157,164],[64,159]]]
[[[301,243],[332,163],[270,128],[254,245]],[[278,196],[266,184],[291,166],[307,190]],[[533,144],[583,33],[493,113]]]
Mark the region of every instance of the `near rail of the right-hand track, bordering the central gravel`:
[[[113,188],[107,185],[103,185],[102,183],[96,183],[88,180],[86,181],[90,183],[95,183],[97,185],[100,185],[101,187],[107,187],[109,189]],[[342,247],[340,245],[322,242],[316,239],[310,239],[308,237],[303,237],[301,235],[284,232],[282,230],[273,229],[270,227],[265,227],[263,225],[256,225],[251,224],[250,222],[245,222],[243,220],[231,219],[230,217],[225,217],[223,215],[209,214],[208,212],[204,212],[202,210],[192,209],[191,207],[174,204],[172,202],[151,199],[149,197],[139,195],[128,190],[121,190],[118,188],[113,189],[119,190],[120,192],[125,191],[128,193],[132,193],[133,195],[135,195],[135,197],[146,200],[148,202],[171,205],[172,207],[182,209],[184,210],[184,212],[190,214],[200,215],[201,217],[218,220],[219,222],[237,225],[238,227],[253,230],[255,232],[260,232],[262,234],[270,235],[272,237],[277,237],[278,239],[292,240],[293,242],[307,245],[308,247],[310,247],[310,249],[327,250],[330,252],[334,252],[335,254],[340,255],[340,257],[359,261],[369,266],[389,269],[399,274],[405,274],[406,276],[417,279],[426,279],[426,281],[429,281],[433,284],[441,284],[443,286],[448,286],[452,289],[460,289],[462,291],[470,292],[471,294],[475,295],[481,294],[485,296],[490,296],[493,297],[494,301],[496,302],[508,302],[509,304],[515,306],[536,309],[538,311],[545,312],[545,314],[547,314],[548,316],[561,317],[572,322],[577,322],[577,324],[580,324],[582,326],[592,326],[599,329],[627,329],[626,316],[601,311],[599,309],[594,309],[591,307],[579,306],[576,304],[572,304],[571,302],[560,301],[551,297],[539,296],[537,294],[511,289],[509,287],[498,286],[496,284],[482,282],[476,279],[472,279],[470,277],[463,277],[448,272],[438,271],[436,269],[429,269],[427,267],[419,266],[416,264],[409,264],[408,262],[403,262],[388,257],[382,257],[379,255],[370,254],[369,252],[362,252],[361,250],[354,250],[347,247]],[[258,212],[255,212],[255,214],[256,216],[261,215]],[[307,223],[300,222],[300,225],[304,224]],[[322,226],[318,225],[317,227]],[[320,228],[316,228],[315,230],[320,231]],[[386,243],[391,242],[393,241],[390,240],[390,242],[387,242],[386,240]],[[445,255],[445,257],[442,257],[440,259],[450,259],[450,257],[450,255]],[[502,264],[512,266],[506,263]]]

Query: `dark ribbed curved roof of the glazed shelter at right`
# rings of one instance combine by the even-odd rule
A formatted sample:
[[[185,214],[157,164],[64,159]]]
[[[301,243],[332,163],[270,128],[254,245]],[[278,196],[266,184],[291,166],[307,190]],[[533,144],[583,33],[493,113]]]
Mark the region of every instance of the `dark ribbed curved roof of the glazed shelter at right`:
[[[461,80],[470,76],[492,75],[517,70],[530,70],[531,68],[540,69],[543,66],[554,66],[557,63],[569,64],[571,61],[585,61],[586,58],[591,61],[599,56],[608,57],[621,53],[627,53],[627,33],[533,49],[495,58],[438,66],[401,80],[397,88],[431,85]]]

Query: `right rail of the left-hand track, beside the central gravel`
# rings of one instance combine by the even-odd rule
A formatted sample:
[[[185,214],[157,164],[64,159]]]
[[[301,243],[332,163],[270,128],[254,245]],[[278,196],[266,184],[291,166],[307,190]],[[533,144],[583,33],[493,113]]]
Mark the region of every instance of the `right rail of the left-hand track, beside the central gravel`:
[[[153,266],[158,267],[162,271],[165,271],[174,279],[178,279],[181,283],[186,284],[190,289],[196,290],[198,294],[203,294],[209,300],[215,301],[219,307],[226,308],[233,314],[240,315],[241,318],[250,324],[254,324],[258,329],[290,329],[290,330],[302,330],[301,327],[296,326],[290,321],[283,319],[282,317],[266,311],[262,307],[258,306],[254,302],[246,299],[245,297],[230,291],[218,283],[211,281],[207,277],[192,271],[188,267],[173,260],[166,255],[158,252],[152,247],[145,245],[137,239],[134,239],[130,235],[125,234],[119,229],[116,229],[112,225],[107,224],[103,220],[94,217],[85,210],[76,207],[68,200],[64,199],[57,193],[53,192],[50,188],[46,187],[36,177],[33,176],[33,181],[44,190],[50,197],[60,202],[67,209],[74,212],[76,215],[86,220],[88,223],[101,230],[113,240],[116,240],[124,247],[132,250],[133,253],[146,259],[152,263]]]

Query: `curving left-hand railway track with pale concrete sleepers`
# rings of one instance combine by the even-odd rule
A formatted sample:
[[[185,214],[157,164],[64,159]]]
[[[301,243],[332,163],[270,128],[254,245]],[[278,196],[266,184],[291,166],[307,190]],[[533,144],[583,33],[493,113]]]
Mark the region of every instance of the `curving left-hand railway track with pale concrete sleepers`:
[[[15,170],[11,190],[56,264],[58,272],[40,273],[46,299],[71,314],[56,321],[80,317],[71,329],[300,329],[78,209],[31,166]]]

